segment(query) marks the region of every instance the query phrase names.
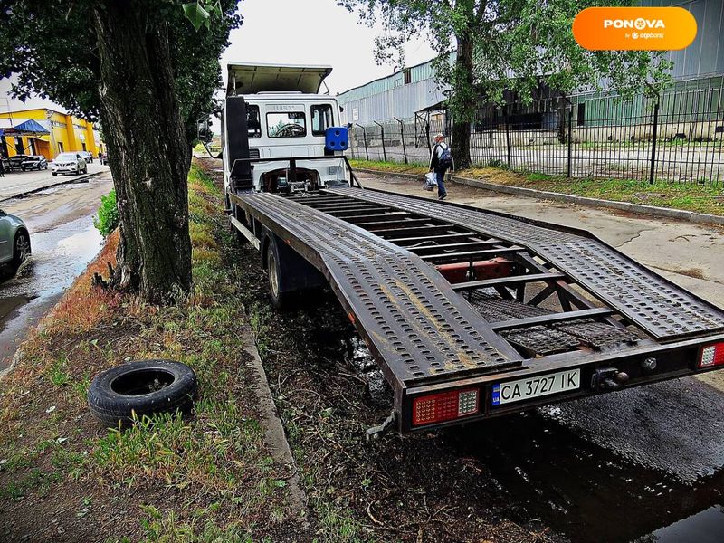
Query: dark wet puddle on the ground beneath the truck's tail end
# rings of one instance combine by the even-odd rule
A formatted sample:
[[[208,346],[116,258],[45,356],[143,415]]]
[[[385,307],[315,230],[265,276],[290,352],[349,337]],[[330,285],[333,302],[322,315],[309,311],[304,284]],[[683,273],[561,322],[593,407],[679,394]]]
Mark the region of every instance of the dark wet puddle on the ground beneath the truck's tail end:
[[[357,334],[319,320],[308,348],[367,378],[374,362]],[[451,459],[480,464],[511,519],[538,519],[572,543],[724,541],[721,393],[694,379],[635,390],[453,427],[438,439]]]

